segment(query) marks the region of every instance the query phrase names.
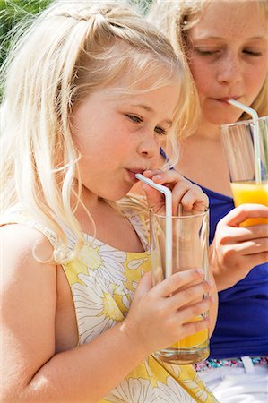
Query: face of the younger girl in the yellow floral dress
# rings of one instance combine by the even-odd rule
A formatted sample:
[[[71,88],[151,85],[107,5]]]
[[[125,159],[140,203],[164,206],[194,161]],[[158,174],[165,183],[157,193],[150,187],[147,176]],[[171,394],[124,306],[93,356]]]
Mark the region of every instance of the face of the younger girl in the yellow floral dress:
[[[122,87],[122,81],[117,84]],[[135,173],[159,164],[160,142],[171,128],[179,94],[177,81],[124,97],[116,88],[97,90],[74,107],[71,116],[73,139],[82,155],[82,184],[89,194],[110,201],[129,192]],[[145,81],[137,90],[146,88]]]

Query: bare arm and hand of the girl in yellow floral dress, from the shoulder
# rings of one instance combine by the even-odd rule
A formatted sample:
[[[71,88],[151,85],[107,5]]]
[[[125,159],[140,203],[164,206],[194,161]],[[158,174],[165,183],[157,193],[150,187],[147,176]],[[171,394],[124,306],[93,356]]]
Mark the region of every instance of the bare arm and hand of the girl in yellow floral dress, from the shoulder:
[[[187,323],[211,305],[210,300],[191,304],[210,289],[200,273],[189,270],[154,288],[144,275],[124,322],[56,354],[56,266],[32,256],[37,240],[41,259],[48,258],[51,246],[34,229],[7,226],[0,233],[2,402],[98,401],[152,351],[207,327],[205,321]],[[169,297],[179,287],[183,290]]]

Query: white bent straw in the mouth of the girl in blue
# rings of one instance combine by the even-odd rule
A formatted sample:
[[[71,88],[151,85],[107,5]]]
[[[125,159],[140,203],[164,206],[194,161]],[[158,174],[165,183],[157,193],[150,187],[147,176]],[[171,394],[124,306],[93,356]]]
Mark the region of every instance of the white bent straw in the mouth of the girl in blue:
[[[229,104],[246,112],[253,120],[253,140],[254,140],[254,154],[255,154],[255,183],[262,184],[261,175],[261,151],[260,151],[260,133],[258,125],[258,114],[252,107],[246,107],[235,99],[229,99]]]

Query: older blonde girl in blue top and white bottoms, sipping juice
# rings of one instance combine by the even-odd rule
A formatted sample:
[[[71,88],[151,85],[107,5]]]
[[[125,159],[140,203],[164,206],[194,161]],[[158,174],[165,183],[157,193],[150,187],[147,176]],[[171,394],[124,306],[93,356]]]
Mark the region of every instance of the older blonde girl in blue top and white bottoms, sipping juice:
[[[230,106],[230,98],[268,115],[268,2],[158,0],[150,20],[185,55],[200,105],[195,132],[184,140],[182,133],[177,163],[210,198],[211,268],[220,291],[211,356],[197,369],[224,403],[266,402],[268,228],[239,224],[267,217],[268,208],[234,209],[219,125],[250,117]]]

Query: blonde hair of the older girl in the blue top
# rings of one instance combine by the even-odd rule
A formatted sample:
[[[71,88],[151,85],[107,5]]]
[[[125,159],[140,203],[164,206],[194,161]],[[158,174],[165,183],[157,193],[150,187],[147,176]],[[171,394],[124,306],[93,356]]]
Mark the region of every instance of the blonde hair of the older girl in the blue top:
[[[153,21],[154,24],[162,30],[169,38],[172,46],[177,54],[186,55],[188,48],[188,30],[200,21],[207,7],[213,0],[154,0],[151,5],[151,10],[148,14],[148,21]],[[222,0],[228,1],[228,0]],[[244,1],[244,0],[238,0]],[[268,1],[256,0],[255,5],[261,7],[268,20]],[[185,56],[186,60],[186,56]],[[191,73],[189,73],[191,75]],[[191,75],[192,77],[192,75]],[[192,81],[194,79],[192,77]],[[195,86],[195,83],[193,84]],[[268,77],[264,81],[262,90],[250,105],[253,107],[259,116],[268,115]],[[248,119],[244,113],[239,120]]]

